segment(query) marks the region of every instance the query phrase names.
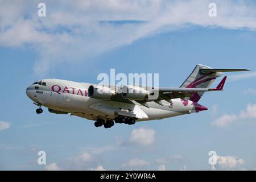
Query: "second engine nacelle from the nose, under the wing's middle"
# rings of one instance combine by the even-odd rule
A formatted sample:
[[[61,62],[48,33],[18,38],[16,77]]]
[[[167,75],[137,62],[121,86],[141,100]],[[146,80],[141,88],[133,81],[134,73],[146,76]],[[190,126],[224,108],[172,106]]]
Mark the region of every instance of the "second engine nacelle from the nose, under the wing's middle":
[[[121,96],[130,100],[144,100],[148,98],[149,92],[137,86],[123,86]]]

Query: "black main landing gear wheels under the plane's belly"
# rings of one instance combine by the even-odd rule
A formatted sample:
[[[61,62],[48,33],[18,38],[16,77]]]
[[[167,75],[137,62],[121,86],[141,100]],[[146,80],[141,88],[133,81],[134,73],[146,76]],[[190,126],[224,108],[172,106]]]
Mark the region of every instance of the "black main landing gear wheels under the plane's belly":
[[[136,122],[135,118],[130,118],[130,117],[129,118],[115,117],[114,121],[115,123],[125,123],[127,125],[134,125]],[[97,121],[94,123],[94,126],[100,127],[104,125],[105,129],[109,129],[110,127],[114,126],[114,121],[108,119],[105,122],[104,119],[98,118]]]

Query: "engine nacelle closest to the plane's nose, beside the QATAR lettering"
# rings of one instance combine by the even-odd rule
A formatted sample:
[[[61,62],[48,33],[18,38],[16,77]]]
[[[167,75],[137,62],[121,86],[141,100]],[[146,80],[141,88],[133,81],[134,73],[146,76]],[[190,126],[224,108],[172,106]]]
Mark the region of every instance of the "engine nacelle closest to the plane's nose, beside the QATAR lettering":
[[[117,93],[106,86],[90,85],[88,88],[88,96],[101,100],[108,100],[114,97]]]

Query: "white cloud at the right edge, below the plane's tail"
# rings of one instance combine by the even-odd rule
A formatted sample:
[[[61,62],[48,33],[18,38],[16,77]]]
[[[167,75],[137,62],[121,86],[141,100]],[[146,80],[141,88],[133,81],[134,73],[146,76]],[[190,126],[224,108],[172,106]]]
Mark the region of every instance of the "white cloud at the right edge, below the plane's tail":
[[[239,115],[225,114],[214,120],[212,124],[217,127],[226,127],[237,121],[238,119],[256,118],[256,104],[248,104],[245,110],[241,110]]]

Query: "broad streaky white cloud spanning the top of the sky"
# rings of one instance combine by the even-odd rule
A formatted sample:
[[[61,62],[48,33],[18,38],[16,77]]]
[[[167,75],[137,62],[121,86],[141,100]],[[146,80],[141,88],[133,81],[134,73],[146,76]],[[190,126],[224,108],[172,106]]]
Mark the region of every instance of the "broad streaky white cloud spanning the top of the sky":
[[[42,18],[35,11],[36,3],[23,0],[14,6],[5,1],[0,6],[0,45],[34,49],[39,57],[34,72],[42,75],[58,63],[82,63],[135,40],[193,25],[256,29],[254,3],[215,1],[217,17],[210,18],[210,2],[46,0],[47,16]],[[63,6],[65,11],[59,9]],[[247,76],[233,79],[241,77]]]

